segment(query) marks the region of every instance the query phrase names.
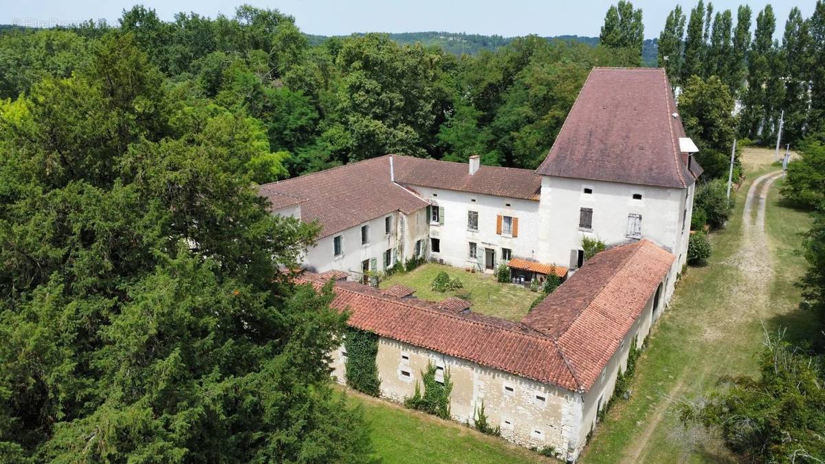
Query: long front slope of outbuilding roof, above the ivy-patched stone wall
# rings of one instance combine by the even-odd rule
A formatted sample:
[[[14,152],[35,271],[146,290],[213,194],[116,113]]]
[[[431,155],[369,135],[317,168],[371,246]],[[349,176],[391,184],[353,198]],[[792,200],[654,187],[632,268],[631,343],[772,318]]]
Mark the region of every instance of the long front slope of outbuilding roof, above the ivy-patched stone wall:
[[[305,272],[301,280],[323,286],[314,274]],[[578,389],[554,340],[524,324],[456,314],[435,303],[385,296],[356,282],[337,282],[333,291],[332,308],[348,310],[348,324],[354,327],[516,376]]]

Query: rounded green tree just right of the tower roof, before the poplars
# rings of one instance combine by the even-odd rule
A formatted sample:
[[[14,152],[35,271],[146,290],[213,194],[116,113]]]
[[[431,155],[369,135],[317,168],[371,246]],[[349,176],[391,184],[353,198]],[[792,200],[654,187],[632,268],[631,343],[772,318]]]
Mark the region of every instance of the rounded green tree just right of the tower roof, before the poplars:
[[[728,86],[716,76],[692,76],[679,96],[679,112],[686,134],[699,147],[696,159],[705,169],[705,177],[726,177],[729,149],[736,135]]]

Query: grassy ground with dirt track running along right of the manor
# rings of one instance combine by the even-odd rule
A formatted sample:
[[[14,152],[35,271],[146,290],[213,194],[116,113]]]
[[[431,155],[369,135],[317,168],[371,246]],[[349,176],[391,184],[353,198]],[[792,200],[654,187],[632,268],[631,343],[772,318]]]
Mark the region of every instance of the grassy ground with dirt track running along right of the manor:
[[[777,170],[768,150],[757,154],[746,159],[747,181],[733,218],[711,236],[713,256],[682,277],[639,361],[633,395],[596,429],[584,462],[733,462],[713,436],[681,424],[681,401],[708,393],[721,375],[756,374],[766,330],[788,327],[789,339],[813,336],[813,315],[797,308],[799,289],[793,286],[804,270],[797,250],[807,214],[785,206],[775,183],[766,200],[764,243],[749,241],[757,226],[743,224],[748,187]],[[767,258],[752,262],[762,255]]]

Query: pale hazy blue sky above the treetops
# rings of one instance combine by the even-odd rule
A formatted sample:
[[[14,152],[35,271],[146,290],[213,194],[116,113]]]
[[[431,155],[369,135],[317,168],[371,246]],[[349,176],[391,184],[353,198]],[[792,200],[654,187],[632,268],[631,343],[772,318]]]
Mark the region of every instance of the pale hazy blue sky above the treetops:
[[[124,9],[136,3],[153,8],[163,20],[176,12],[196,12],[215,17],[232,16],[235,7],[247,2],[255,7],[275,8],[295,17],[301,31],[321,36],[353,32],[447,31],[499,36],[598,36],[605,12],[615,0],[0,0],[0,24],[23,26],[68,25],[88,19],[106,19],[117,24]],[[716,0],[714,12],[731,9],[734,21],[741,0]],[[643,12],[645,38],[658,37],[667,13],[676,1],[636,0]],[[748,2],[756,26],[757,12],[766,1]],[[780,39],[785,19],[798,6],[804,17],[813,12],[814,0],[770,2],[777,17],[775,37]],[[682,2],[686,15],[695,2]]]

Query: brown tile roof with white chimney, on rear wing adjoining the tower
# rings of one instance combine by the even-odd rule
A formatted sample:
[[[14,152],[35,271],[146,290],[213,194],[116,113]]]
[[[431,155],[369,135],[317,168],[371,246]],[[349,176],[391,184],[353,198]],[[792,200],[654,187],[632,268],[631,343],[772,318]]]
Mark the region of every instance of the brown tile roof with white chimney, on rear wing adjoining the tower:
[[[541,177],[530,169],[480,166],[470,175],[467,163],[394,155],[396,182],[459,192],[539,200]]]

